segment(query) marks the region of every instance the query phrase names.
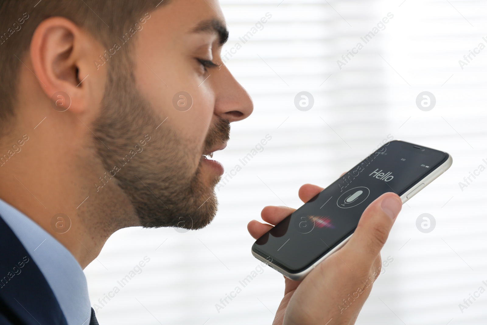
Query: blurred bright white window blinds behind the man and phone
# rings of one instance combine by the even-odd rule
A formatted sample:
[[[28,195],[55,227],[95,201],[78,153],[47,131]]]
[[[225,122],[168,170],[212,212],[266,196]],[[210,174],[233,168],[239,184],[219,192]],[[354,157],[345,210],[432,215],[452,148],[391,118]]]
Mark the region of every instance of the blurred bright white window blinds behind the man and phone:
[[[215,306],[259,265],[247,223],[260,220],[266,205],[299,207],[302,184],[329,185],[388,136],[447,151],[454,162],[404,205],[382,250],[382,259],[393,262],[356,324],[486,324],[487,293],[459,307],[487,288],[487,172],[464,181],[479,165],[487,167],[486,2],[221,5],[230,30],[225,64],[255,109],[233,124],[228,147],[214,157],[230,172],[266,135],[271,139],[219,184],[219,211],[206,229],[130,228],[108,240],[85,269],[100,324],[271,324],[284,281],[268,267],[223,309]],[[378,25],[385,17],[388,22]],[[357,43],[363,45],[358,54],[342,59]],[[468,57],[470,51],[475,56]],[[294,104],[302,91],[314,98],[307,111]],[[424,91],[436,99],[430,111],[416,106]],[[436,221],[428,233],[416,228],[422,213]],[[130,282],[99,303],[140,261],[145,266]]]

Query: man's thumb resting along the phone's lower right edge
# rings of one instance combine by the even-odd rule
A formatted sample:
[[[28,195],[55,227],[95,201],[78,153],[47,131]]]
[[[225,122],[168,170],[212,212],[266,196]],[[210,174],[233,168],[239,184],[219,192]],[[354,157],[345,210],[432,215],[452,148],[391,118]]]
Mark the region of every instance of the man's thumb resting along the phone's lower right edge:
[[[384,193],[362,213],[350,241],[343,247],[358,265],[374,263],[386,243],[402,201],[395,193]]]

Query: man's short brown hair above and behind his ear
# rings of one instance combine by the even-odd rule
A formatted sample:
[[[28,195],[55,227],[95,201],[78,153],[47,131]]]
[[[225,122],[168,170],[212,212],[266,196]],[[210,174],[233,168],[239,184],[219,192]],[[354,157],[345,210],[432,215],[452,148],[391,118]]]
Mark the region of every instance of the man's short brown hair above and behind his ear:
[[[29,50],[37,26],[49,17],[64,17],[111,49],[144,14],[169,0],[1,0],[0,133],[15,116],[20,59]],[[133,43],[133,42],[128,42]],[[124,47],[122,51],[127,51]],[[100,53],[103,55],[102,53]]]

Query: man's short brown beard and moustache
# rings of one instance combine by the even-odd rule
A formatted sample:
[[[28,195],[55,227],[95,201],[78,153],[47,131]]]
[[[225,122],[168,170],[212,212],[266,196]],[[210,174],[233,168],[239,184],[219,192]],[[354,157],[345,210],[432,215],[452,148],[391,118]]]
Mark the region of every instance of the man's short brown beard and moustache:
[[[208,130],[204,148],[198,148],[199,141],[178,135],[168,121],[160,124],[164,118],[155,111],[174,108],[153,109],[136,90],[128,55],[117,59],[109,66],[101,113],[94,122],[103,167],[112,171],[143,227],[205,227],[217,211],[214,188],[220,177],[205,184],[201,159],[195,171],[195,157],[229,139],[229,121],[219,118]]]

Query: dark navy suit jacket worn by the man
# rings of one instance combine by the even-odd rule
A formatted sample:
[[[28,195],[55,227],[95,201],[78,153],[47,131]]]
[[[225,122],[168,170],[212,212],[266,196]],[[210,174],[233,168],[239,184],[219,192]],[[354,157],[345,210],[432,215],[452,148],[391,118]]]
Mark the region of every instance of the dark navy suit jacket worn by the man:
[[[0,324],[68,325],[44,275],[1,217]],[[98,325],[93,308],[90,325]]]

